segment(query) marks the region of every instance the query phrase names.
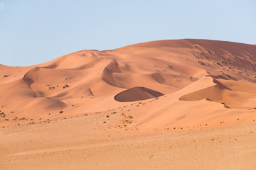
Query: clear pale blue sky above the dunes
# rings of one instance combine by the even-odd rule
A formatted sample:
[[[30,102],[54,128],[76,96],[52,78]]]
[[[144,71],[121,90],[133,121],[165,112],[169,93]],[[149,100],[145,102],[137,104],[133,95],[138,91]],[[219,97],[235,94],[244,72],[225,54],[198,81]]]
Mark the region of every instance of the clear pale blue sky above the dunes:
[[[0,64],[183,38],[256,43],[255,0],[0,0]]]

